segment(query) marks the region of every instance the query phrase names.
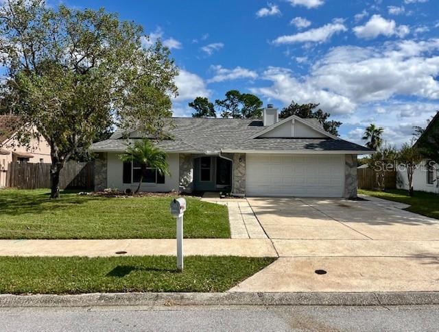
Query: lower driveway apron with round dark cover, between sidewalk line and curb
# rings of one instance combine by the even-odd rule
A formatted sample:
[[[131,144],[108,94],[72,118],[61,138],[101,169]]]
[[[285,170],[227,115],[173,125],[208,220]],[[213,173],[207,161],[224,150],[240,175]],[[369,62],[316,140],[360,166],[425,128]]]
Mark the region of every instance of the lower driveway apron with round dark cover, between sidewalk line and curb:
[[[438,266],[435,257],[283,257],[230,291],[438,292]]]

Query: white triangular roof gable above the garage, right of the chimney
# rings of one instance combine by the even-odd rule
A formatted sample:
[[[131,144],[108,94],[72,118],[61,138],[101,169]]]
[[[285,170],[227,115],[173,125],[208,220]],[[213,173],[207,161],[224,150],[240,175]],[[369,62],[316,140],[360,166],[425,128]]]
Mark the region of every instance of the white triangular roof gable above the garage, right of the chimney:
[[[250,138],[333,138],[338,140],[337,136],[331,135],[322,128],[313,125],[310,121],[302,119],[296,115],[289,116],[274,125],[254,134]]]

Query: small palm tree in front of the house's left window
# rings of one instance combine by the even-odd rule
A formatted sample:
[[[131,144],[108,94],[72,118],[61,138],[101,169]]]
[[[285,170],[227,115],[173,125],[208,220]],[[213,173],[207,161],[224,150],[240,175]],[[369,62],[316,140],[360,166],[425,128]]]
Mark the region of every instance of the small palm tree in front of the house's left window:
[[[155,168],[161,175],[169,175],[169,164],[166,161],[166,153],[158,149],[150,140],[143,139],[128,146],[126,152],[119,156],[122,162],[137,162],[141,166],[139,186],[134,194],[137,194],[142,185],[147,167]]]

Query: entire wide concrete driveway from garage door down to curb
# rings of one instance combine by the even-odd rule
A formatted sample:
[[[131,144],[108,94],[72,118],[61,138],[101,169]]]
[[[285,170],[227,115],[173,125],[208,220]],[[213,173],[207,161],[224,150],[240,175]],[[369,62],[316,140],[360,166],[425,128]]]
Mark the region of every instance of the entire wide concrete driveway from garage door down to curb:
[[[367,199],[248,199],[280,258],[233,291],[439,291],[439,220]]]

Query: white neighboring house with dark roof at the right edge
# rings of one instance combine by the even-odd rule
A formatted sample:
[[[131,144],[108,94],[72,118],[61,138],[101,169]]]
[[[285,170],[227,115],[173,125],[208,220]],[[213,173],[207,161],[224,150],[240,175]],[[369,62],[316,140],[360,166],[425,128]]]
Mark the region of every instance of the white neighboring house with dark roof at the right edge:
[[[434,129],[436,128],[436,129]],[[431,135],[432,130],[438,130],[439,128],[439,112],[431,119],[427,128],[423,134],[414,143],[416,146],[420,142],[421,138],[428,138]],[[434,144],[431,142],[431,144]],[[438,148],[439,149],[439,148]],[[424,159],[413,173],[412,185],[414,190],[420,190],[423,192],[434,192],[439,194],[439,165],[429,159]],[[396,188],[408,190],[407,171],[403,168],[399,168],[396,177]]]

